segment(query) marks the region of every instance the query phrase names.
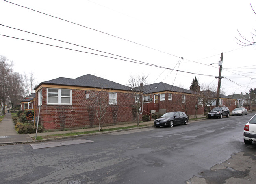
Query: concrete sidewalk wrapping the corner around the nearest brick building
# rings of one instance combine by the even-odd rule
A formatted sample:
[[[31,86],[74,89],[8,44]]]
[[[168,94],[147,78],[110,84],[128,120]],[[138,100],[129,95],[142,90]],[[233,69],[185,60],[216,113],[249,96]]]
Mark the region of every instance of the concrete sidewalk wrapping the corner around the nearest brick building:
[[[102,129],[130,127],[134,125],[137,125],[137,123],[106,126],[106,127],[102,127]],[[142,122],[142,123],[139,123],[139,125],[145,125],[147,127],[150,127],[150,125],[153,126],[153,121]],[[33,142],[32,137],[35,137],[35,134],[17,134],[17,132],[15,132],[14,126],[15,125],[13,123],[13,120],[11,119],[11,113],[6,113],[6,115],[4,116],[4,119],[0,123],[0,145]],[[74,132],[87,132],[87,131],[98,130],[98,128],[99,127],[68,130],[68,131],[43,132],[43,133],[37,133],[37,137],[47,136],[47,135],[56,135],[56,134],[67,134],[67,133],[74,133]],[[142,127],[135,127],[132,129],[140,129],[140,128]],[[122,130],[116,130],[116,131],[124,131],[124,130],[128,130],[128,129],[122,129]],[[109,133],[109,132],[97,132],[93,134],[103,134],[103,133]],[[93,135],[93,134],[83,134],[79,136]],[[70,137],[76,137],[76,136],[70,136]],[[70,137],[64,137],[64,138],[70,138]],[[56,139],[61,139],[61,138],[56,138]],[[39,140],[39,141],[43,141],[43,140]]]

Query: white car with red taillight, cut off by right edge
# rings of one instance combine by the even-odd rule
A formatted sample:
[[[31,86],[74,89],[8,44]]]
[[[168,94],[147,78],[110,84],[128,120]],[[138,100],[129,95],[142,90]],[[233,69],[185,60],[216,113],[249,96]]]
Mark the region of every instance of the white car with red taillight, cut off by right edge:
[[[243,129],[243,142],[245,144],[256,142],[256,114],[246,123]]]

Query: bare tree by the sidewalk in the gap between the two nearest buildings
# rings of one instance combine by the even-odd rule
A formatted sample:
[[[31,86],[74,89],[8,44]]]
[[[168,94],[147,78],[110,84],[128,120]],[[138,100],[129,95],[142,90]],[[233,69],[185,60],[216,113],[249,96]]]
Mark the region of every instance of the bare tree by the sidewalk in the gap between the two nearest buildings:
[[[128,86],[130,87],[132,98],[134,98],[134,105],[132,105],[132,109],[137,114],[137,126],[139,126],[140,111],[142,112],[142,98],[146,81],[147,76],[145,76],[144,74],[138,75],[137,77],[130,76],[130,79],[128,81]]]

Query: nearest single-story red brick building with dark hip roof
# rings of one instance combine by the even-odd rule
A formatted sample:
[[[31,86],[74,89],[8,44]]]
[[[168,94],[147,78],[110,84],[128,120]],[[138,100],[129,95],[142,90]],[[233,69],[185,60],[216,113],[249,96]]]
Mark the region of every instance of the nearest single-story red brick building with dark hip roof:
[[[94,75],[76,79],[59,77],[40,83],[35,87],[35,114],[44,129],[76,129],[99,125],[94,101],[103,98],[102,107],[107,107],[101,119],[103,125],[132,122],[134,97],[127,86]],[[104,101],[106,99],[106,101]],[[142,116],[139,117],[142,120]]]

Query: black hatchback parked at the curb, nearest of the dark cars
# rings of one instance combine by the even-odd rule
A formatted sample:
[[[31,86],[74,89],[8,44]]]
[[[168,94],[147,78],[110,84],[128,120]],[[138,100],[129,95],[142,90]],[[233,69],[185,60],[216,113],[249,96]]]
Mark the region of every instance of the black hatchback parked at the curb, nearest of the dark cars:
[[[154,126],[169,126],[173,127],[176,124],[187,125],[188,117],[184,112],[167,112],[154,121]]]

